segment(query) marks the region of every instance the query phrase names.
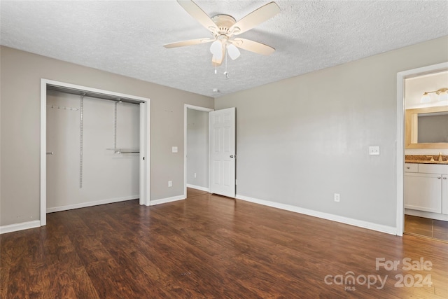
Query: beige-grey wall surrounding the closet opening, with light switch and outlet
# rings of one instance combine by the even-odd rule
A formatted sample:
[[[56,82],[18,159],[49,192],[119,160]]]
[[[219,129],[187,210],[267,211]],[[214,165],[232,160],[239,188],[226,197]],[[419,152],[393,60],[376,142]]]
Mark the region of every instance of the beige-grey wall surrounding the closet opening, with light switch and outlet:
[[[183,195],[184,105],[214,99],[3,46],[0,63],[0,226],[39,220],[41,78],[151,99],[151,200]]]

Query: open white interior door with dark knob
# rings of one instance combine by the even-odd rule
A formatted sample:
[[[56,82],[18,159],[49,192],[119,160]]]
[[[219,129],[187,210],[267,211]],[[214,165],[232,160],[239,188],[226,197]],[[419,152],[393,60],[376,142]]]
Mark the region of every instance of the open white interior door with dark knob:
[[[235,107],[209,112],[210,193],[235,197]]]

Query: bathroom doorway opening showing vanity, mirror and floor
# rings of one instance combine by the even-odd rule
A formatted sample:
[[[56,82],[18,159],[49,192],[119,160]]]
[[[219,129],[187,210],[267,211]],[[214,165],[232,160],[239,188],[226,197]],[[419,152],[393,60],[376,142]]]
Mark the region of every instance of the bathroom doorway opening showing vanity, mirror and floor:
[[[402,84],[403,232],[448,242],[448,64],[407,71]]]

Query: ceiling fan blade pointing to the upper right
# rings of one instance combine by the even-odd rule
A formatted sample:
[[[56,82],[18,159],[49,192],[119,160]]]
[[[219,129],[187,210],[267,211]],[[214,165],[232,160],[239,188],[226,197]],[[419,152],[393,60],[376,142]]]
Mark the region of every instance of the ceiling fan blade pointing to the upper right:
[[[261,24],[262,22],[265,22],[266,20],[269,20],[279,12],[279,6],[275,2],[270,2],[236,22],[229,28],[229,32],[233,32],[234,35],[241,34]]]

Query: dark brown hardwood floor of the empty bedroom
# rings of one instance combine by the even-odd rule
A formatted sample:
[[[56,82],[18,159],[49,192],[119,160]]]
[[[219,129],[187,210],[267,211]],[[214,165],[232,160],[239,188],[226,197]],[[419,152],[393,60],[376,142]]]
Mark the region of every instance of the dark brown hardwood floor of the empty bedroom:
[[[208,193],[48,214],[0,246],[8,299],[448,298],[444,242]]]

